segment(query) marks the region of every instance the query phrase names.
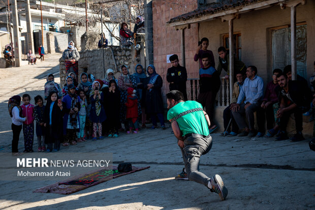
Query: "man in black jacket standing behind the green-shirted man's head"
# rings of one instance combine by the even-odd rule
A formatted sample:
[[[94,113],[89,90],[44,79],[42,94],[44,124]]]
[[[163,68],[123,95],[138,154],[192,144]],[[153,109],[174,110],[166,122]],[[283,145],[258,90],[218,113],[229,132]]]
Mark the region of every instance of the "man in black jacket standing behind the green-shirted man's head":
[[[167,70],[166,79],[170,83],[170,91],[180,91],[184,100],[187,101],[186,81],[187,71],[185,67],[178,64],[177,54],[170,56],[172,67]]]

